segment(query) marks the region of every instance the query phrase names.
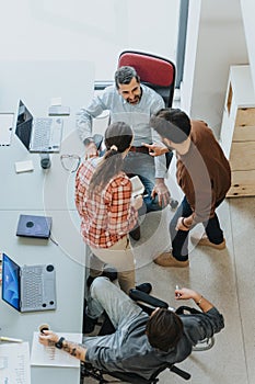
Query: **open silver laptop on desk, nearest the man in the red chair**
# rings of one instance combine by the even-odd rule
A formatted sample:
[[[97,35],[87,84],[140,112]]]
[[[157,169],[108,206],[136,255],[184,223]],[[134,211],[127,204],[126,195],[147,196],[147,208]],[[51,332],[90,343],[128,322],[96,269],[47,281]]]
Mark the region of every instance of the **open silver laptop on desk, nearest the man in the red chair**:
[[[62,138],[62,118],[34,117],[20,100],[15,134],[30,153],[59,153]]]

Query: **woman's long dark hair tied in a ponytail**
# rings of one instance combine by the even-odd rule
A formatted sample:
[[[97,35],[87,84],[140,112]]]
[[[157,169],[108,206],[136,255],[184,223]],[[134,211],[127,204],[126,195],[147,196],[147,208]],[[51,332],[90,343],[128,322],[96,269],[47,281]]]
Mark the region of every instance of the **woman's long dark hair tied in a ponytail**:
[[[105,131],[106,153],[91,178],[89,195],[100,193],[107,182],[123,169],[123,153],[130,146],[134,137],[130,126],[123,122],[111,124]]]

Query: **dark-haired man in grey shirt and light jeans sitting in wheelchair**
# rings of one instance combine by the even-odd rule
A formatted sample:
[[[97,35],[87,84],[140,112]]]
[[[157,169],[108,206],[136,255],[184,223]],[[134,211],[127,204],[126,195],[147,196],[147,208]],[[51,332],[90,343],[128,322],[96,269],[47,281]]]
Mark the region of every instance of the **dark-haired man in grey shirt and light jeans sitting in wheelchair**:
[[[185,360],[199,340],[212,337],[224,327],[223,316],[196,291],[175,290],[175,298],[193,300],[201,313],[176,315],[170,309],[155,308],[148,315],[118,286],[100,276],[90,289],[88,315],[96,318],[105,310],[115,332],[86,336],[77,345],[45,330],[39,335],[39,342],[60,348],[97,369],[132,372],[148,380],[165,363]]]

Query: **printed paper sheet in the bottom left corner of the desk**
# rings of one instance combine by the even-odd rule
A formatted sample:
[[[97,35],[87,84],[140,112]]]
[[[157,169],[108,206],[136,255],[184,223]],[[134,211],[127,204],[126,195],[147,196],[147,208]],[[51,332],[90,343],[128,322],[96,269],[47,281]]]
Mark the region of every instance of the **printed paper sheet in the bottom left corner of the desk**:
[[[28,342],[0,345],[0,383],[31,384]]]

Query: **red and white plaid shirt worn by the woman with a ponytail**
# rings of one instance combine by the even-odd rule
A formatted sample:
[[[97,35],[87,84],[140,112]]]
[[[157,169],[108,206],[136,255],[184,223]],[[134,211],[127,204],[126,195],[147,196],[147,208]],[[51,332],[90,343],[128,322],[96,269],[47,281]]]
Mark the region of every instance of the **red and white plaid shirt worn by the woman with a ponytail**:
[[[95,171],[91,160],[83,162],[76,178],[76,205],[81,216],[83,240],[93,248],[109,248],[136,225],[138,212],[131,205],[131,182],[120,172],[101,193],[88,196]]]

